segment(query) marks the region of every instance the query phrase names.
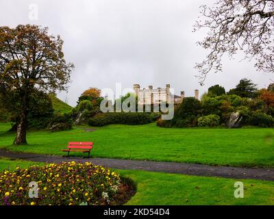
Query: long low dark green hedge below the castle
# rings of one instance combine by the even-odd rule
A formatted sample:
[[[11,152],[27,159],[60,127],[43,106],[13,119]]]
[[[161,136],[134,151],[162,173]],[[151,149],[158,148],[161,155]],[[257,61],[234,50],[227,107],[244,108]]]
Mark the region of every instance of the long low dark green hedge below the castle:
[[[97,114],[88,120],[90,126],[105,126],[110,124],[126,124],[126,125],[144,125],[152,123],[158,116],[143,112],[113,112],[105,114]]]

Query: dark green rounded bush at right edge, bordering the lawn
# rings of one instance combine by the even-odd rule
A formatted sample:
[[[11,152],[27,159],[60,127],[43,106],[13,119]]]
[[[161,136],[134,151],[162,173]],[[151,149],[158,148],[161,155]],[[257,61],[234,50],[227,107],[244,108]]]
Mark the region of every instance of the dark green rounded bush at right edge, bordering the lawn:
[[[249,125],[255,125],[259,127],[274,127],[274,118],[258,110],[252,113],[249,119]]]

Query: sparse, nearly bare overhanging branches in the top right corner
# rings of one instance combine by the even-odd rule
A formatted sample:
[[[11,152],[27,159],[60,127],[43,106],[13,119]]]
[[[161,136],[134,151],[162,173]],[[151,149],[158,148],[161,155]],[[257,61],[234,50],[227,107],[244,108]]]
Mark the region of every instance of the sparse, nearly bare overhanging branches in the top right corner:
[[[213,7],[201,8],[195,31],[209,29],[198,44],[210,51],[196,64],[201,84],[210,71],[222,70],[223,55],[233,57],[238,51],[255,60],[257,70],[274,72],[274,0],[218,0]]]

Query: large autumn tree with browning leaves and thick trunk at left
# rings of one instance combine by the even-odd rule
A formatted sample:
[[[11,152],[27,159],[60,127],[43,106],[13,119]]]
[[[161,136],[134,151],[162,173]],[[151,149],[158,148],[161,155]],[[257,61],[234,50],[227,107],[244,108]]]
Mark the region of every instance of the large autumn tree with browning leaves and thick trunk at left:
[[[3,98],[13,93],[14,105],[19,105],[14,144],[27,144],[33,94],[67,89],[73,64],[64,60],[62,45],[60,36],[50,35],[47,27],[0,27],[0,92]]]

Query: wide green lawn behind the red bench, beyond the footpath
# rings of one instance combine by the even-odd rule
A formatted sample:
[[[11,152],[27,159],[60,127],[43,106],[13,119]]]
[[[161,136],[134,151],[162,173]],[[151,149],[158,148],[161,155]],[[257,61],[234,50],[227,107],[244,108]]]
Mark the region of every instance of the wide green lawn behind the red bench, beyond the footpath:
[[[85,131],[27,134],[27,146],[12,146],[15,133],[0,123],[0,147],[12,151],[64,155],[68,142],[94,142],[94,157],[147,159],[229,166],[274,167],[274,129],[164,129],[150,125],[110,125]],[[79,153],[82,156],[82,153]]]

